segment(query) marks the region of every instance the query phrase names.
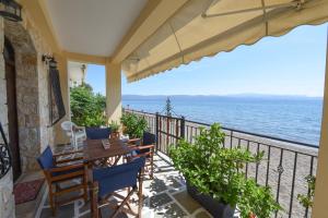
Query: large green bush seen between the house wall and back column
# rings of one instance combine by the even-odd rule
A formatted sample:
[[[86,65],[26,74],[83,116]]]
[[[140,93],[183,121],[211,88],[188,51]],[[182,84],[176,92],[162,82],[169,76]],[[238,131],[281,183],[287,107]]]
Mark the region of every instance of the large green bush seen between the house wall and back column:
[[[101,94],[94,94],[89,84],[75,86],[70,89],[70,105],[72,121],[78,125],[105,125],[106,100]]]

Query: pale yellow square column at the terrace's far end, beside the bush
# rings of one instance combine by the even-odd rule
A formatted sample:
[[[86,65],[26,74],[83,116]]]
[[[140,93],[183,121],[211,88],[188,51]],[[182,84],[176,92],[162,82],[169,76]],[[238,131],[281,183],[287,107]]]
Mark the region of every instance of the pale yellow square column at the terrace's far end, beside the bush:
[[[121,117],[120,64],[106,64],[106,114],[107,121],[119,121]]]

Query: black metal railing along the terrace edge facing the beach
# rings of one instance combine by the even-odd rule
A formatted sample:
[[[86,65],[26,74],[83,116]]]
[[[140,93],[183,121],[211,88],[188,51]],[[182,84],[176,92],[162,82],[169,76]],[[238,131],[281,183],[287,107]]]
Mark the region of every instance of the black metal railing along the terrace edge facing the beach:
[[[199,135],[200,128],[210,124],[184,117],[167,117],[126,109],[142,116],[152,133],[157,135],[156,150],[168,155],[168,147],[179,138],[192,143]],[[274,217],[311,217],[311,208],[304,208],[297,201],[297,194],[308,194],[305,177],[315,175],[318,147],[316,145],[267,136],[234,129],[223,128],[225,132],[224,147],[244,147],[254,154],[265,152],[265,161],[249,164],[244,168],[246,178],[254,178],[257,183],[271,186],[277,202],[284,208]]]

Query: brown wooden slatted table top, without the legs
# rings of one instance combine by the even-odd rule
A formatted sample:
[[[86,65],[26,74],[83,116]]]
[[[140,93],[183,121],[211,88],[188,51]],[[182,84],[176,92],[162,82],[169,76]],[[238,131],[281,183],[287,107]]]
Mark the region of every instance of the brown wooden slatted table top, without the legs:
[[[83,147],[83,157],[86,161],[94,161],[102,158],[122,156],[131,150],[121,140],[109,140],[110,147],[105,149],[102,140],[86,140]]]

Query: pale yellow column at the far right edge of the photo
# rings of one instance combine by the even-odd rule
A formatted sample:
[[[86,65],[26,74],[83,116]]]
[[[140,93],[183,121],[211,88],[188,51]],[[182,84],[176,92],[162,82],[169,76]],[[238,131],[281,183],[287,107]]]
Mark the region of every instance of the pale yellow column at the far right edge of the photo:
[[[328,53],[328,37],[327,37]],[[324,109],[321,121],[321,136],[317,167],[317,179],[315,190],[315,202],[313,218],[328,217],[327,196],[328,196],[328,56],[326,53],[326,75],[324,92]]]

